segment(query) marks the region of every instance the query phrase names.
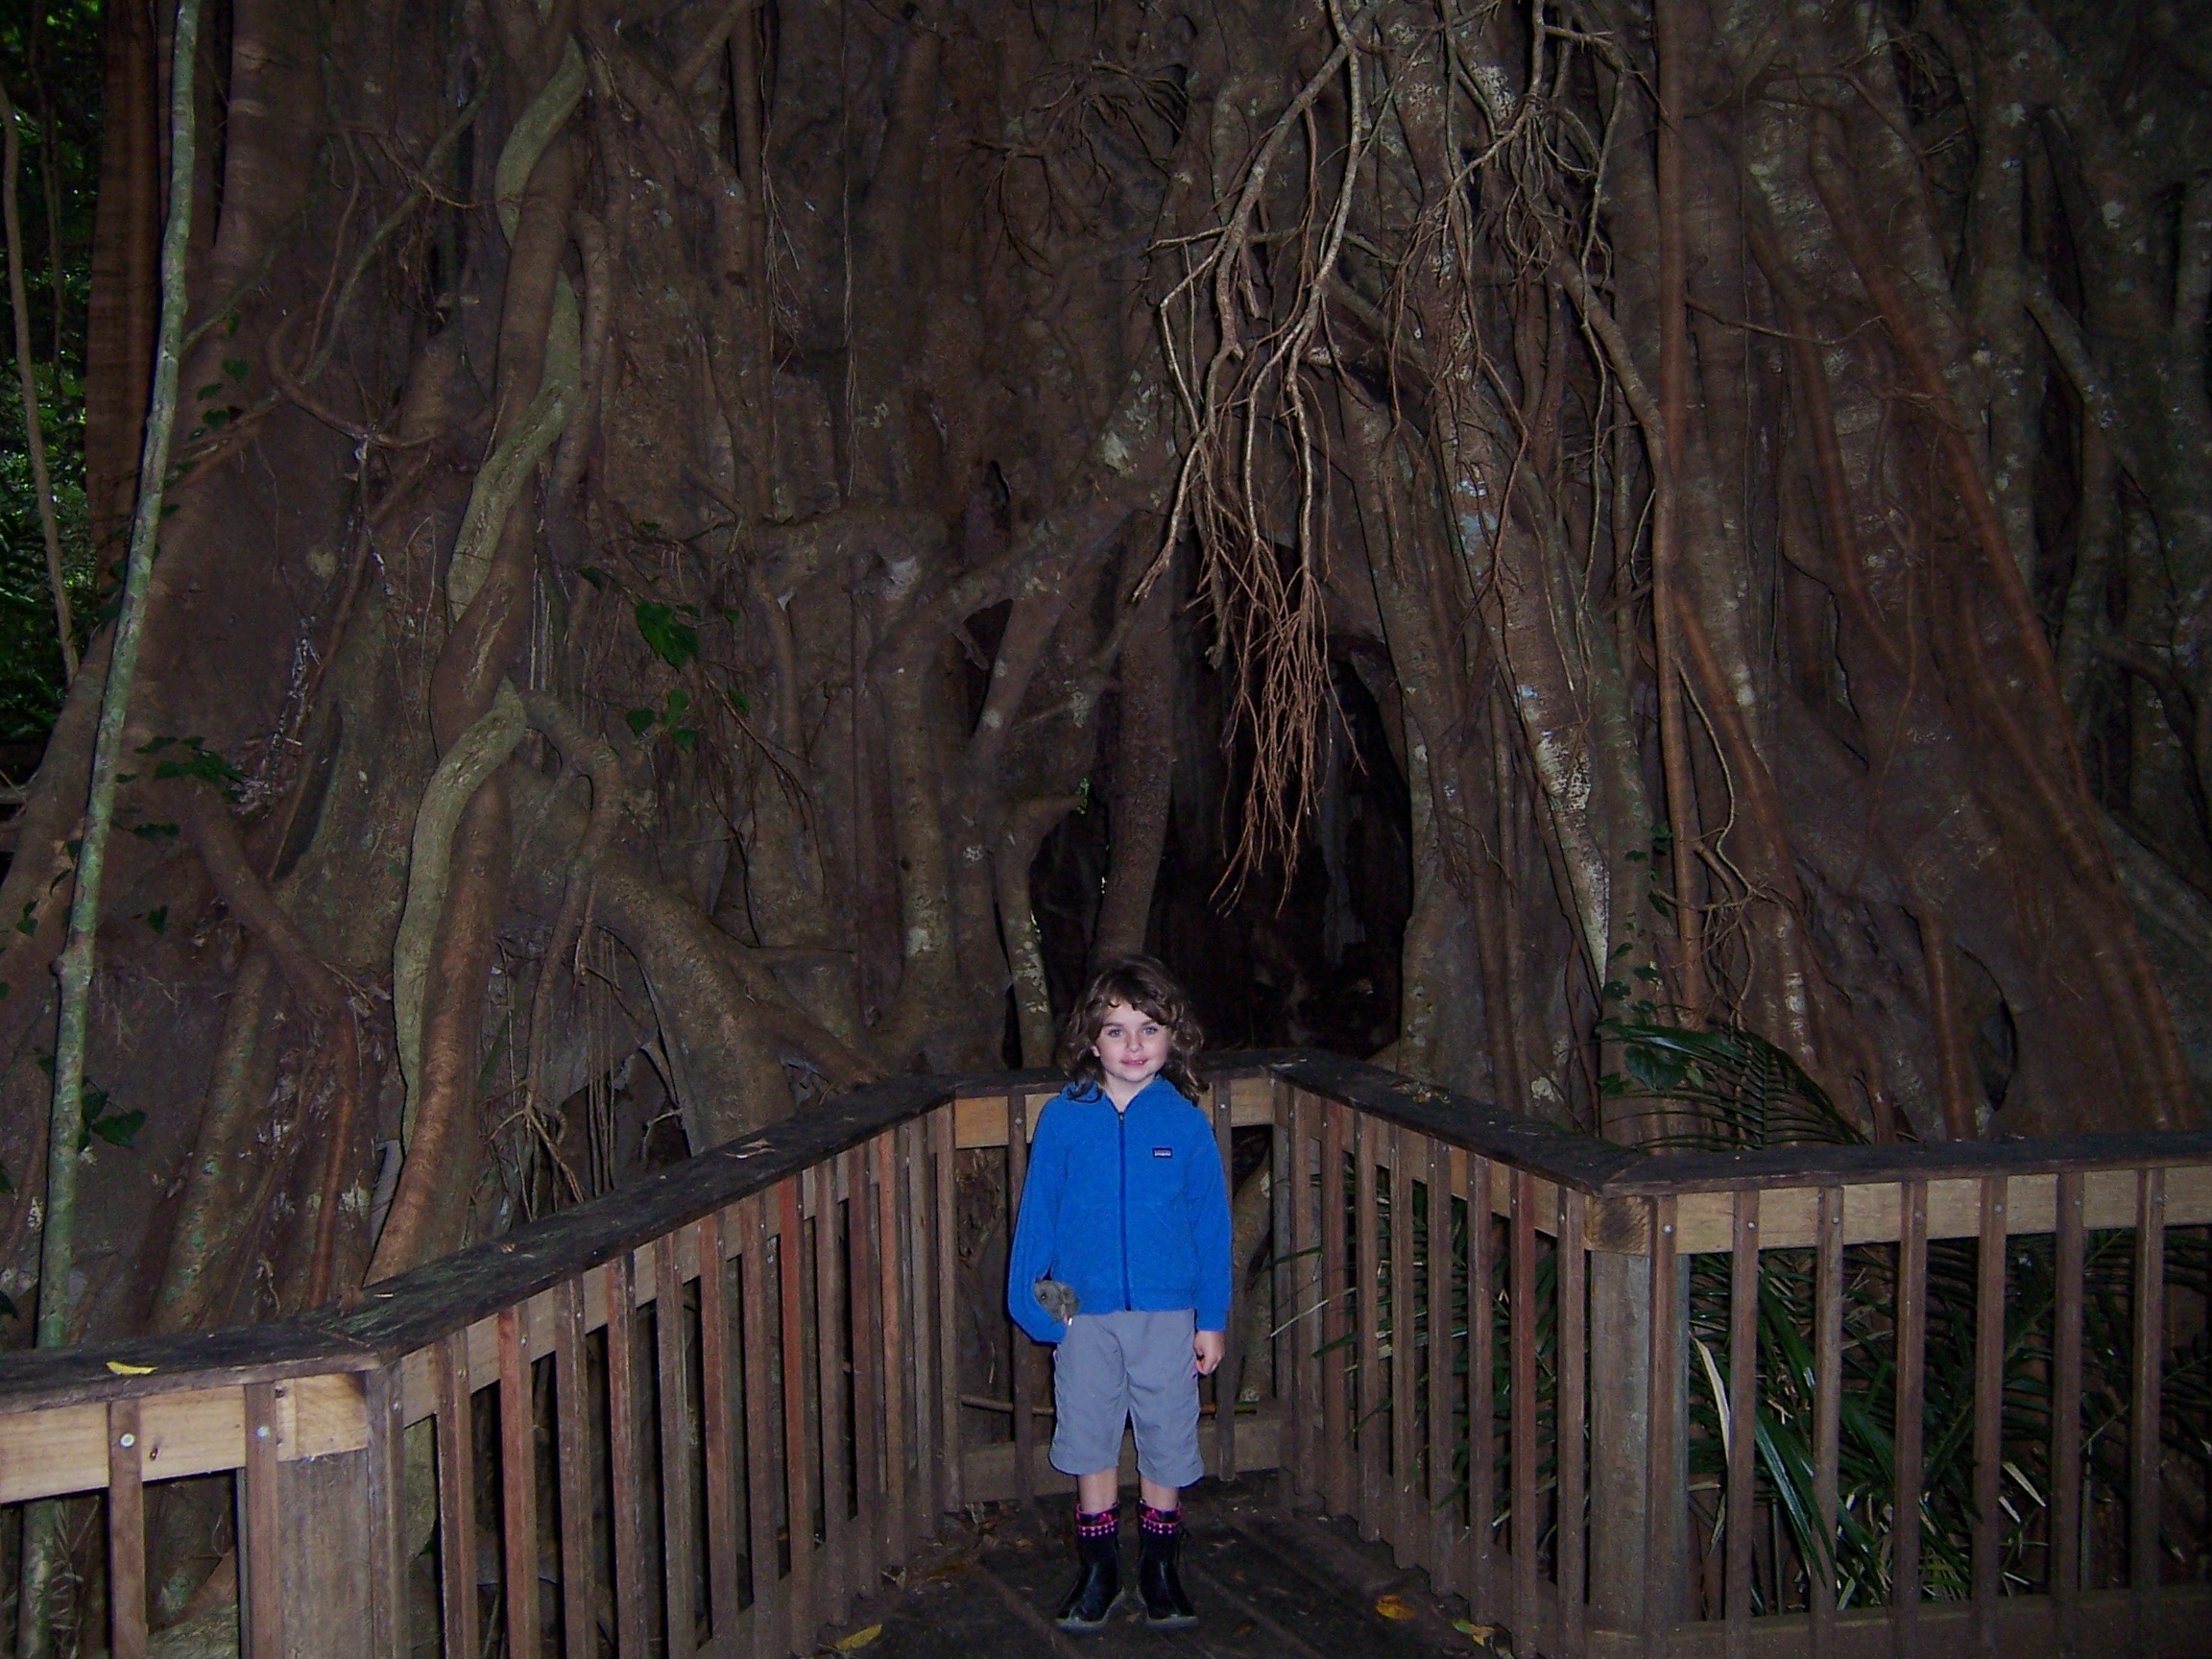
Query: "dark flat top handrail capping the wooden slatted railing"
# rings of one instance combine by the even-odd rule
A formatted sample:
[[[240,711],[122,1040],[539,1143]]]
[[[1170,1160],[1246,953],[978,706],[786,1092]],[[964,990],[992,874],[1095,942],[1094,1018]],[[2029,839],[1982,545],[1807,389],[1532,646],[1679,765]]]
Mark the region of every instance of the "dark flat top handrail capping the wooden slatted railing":
[[[2212,1164],[2212,1133],[2205,1130],[1648,1152],[1542,1119],[1515,1117],[1455,1091],[1312,1048],[1223,1053],[1210,1060],[1206,1075],[1221,1082],[1274,1075],[1287,1086],[1336,1099],[1593,1199]],[[283,1380],[378,1369],[728,1203],[765,1192],[776,1181],[936,1106],[962,1097],[1037,1093],[1062,1079],[1057,1071],[1002,1071],[867,1084],[799,1117],[657,1170],[635,1186],[604,1192],[500,1239],[372,1285],[347,1312],[0,1354],[0,1409],[86,1405],[206,1387],[210,1380]]]

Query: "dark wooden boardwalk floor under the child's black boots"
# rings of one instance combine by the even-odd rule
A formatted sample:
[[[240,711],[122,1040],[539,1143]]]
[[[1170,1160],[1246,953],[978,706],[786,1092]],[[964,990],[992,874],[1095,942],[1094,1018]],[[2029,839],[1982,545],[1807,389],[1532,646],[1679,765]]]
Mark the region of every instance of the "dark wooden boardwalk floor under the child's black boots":
[[[856,1652],[867,1659],[1429,1659],[1429,1655],[1511,1652],[1509,1637],[1478,1646],[1453,1628],[1467,1608],[1440,1601],[1429,1579],[1391,1564],[1380,1544],[1360,1544],[1347,1520],[1287,1513],[1274,1478],[1237,1486],[1203,1482],[1186,1504],[1183,1588],[1199,1626],[1155,1632],[1135,1590],[1095,1637],[1066,1637],[1051,1613],[1075,1579],[1068,1500],[1035,1506],[991,1504],[947,1528],[902,1586],[860,1601],[854,1617],[825,1632],[878,1635]],[[1124,1568],[1137,1562],[1135,1504],[1124,1502]],[[1378,1604],[1389,1597],[1385,1617]],[[834,1652],[834,1648],[832,1648]]]

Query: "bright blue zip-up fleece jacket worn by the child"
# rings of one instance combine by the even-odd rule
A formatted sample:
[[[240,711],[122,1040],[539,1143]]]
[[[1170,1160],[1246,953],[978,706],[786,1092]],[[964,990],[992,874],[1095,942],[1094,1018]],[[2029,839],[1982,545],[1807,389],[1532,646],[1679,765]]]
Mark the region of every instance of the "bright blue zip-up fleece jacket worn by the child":
[[[1040,1343],[1068,1327],[1037,1305],[1057,1279],[1077,1312],[1190,1307],[1201,1332],[1230,1323],[1230,1192],[1214,1128],[1164,1077],[1115,1110],[1071,1084],[1044,1108],[1006,1261],[1006,1307]]]

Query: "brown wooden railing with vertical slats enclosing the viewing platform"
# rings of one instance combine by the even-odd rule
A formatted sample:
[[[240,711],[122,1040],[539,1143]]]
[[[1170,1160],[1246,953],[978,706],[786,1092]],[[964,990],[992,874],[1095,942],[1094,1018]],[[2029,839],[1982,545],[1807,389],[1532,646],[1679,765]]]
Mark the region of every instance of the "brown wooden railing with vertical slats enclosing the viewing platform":
[[[117,1659],[148,1644],[144,1489],[181,1478],[232,1482],[252,1659],[434,1637],[453,1659],[810,1652],[947,1511],[1071,1484],[1044,1460],[1044,1356],[1009,1336],[995,1279],[1053,1088],[867,1088],[343,1316],[7,1356],[0,1504],[104,1491]],[[2090,1628],[2115,1652],[2212,1652],[2205,1586],[2159,1582],[2172,1471],[2137,1433],[2161,1420],[2177,1312],[2166,1230],[2212,1221],[2212,1137],[1650,1157],[1310,1053],[1223,1062],[1206,1108],[1232,1166],[1239,1133],[1265,1141],[1241,1161],[1261,1157],[1272,1239],[1239,1290],[1232,1340],[1259,1345],[1221,1367],[1208,1469],[1281,1469],[1287,1500],[1356,1517],[1522,1652],[2059,1652]],[[2126,1584],[2099,1588],[2084,1241],[2115,1228],[2135,1252],[2130,1531]],[[2033,1582],[2000,1573],[1997,1522],[2022,1234],[2051,1234],[2057,1265]],[[1955,1237],[1980,1239],[1973,1573],[1927,1601],[1929,1241]],[[1770,1502],[1752,1321],[1761,1252],[1796,1250],[1814,1526],[1836,1535],[1838,1425],[1865,1405],[1843,1376],[1847,1252],[1869,1248],[1898,1285],[1891,1597],[1838,1608],[1825,1562],[1714,1517]],[[1732,1340],[1688,1340],[1712,1314],[1692,1256],[1730,1263]],[[1692,1413],[1697,1387],[1725,1418]],[[1719,1491],[1692,1491],[1692,1440],[1714,1438]]]

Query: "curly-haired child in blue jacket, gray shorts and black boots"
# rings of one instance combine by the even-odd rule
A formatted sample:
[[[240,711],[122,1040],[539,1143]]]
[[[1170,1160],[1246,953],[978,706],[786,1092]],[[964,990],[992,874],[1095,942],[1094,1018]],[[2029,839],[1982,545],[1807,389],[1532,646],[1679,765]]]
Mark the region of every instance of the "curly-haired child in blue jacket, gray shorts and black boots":
[[[1068,1084],[1037,1119],[1006,1263],[1006,1307],[1055,1343],[1053,1469],[1075,1475],[1082,1575],[1062,1630],[1106,1626],[1121,1593],[1121,1425],[1137,1425],[1137,1584],[1161,1630],[1197,1624],[1175,1571],[1181,1489],[1199,1460],[1199,1378],[1230,1323],[1230,1199],[1192,1064],[1203,1033],[1148,958],[1099,973],[1062,1037]],[[1042,1296],[1042,1298],[1040,1298]],[[1071,1307],[1073,1301],[1073,1307]]]

